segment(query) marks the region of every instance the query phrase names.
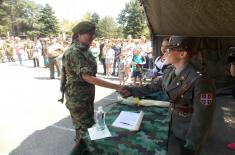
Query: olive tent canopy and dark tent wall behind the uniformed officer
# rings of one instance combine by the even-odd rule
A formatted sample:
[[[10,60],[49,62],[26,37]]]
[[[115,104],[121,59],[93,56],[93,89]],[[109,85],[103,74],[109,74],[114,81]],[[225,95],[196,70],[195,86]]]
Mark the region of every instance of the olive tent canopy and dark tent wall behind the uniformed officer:
[[[141,0],[153,40],[154,55],[160,55],[164,36],[198,37],[205,70],[217,88],[235,84],[227,63],[228,48],[235,46],[234,0]],[[201,69],[200,54],[194,64]]]

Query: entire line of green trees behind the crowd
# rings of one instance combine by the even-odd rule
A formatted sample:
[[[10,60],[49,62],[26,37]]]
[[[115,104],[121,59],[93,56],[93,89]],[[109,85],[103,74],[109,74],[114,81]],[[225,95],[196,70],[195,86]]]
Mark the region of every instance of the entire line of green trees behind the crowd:
[[[97,37],[120,38],[131,34],[134,38],[148,34],[145,18],[137,0],[131,0],[119,15],[118,22],[112,17],[100,18],[94,12],[86,12],[78,21],[63,19],[60,24],[52,8],[31,0],[0,0],[0,35],[56,36],[60,31],[71,34],[74,25],[88,20],[96,24]]]

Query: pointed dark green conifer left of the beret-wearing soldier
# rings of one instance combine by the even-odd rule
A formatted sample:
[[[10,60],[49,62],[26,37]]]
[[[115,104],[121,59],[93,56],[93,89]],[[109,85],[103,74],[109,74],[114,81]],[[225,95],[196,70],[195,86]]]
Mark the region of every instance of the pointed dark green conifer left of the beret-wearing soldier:
[[[40,11],[38,18],[40,36],[55,36],[59,33],[59,22],[48,4]]]

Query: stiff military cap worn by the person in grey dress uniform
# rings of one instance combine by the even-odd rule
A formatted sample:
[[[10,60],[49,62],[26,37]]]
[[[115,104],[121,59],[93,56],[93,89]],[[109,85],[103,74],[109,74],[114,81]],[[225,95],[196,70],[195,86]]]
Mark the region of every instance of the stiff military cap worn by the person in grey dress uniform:
[[[168,44],[169,49],[181,48],[191,50],[195,46],[195,38],[185,36],[171,36]]]

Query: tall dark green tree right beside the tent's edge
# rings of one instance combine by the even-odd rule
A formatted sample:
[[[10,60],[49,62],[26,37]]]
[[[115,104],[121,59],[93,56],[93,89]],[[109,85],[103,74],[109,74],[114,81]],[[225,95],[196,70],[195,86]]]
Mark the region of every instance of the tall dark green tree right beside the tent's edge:
[[[118,16],[118,23],[123,27],[126,37],[131,34],[133,38],[139,38],[147,28],[143,10],[138,0],[130,0]]]

